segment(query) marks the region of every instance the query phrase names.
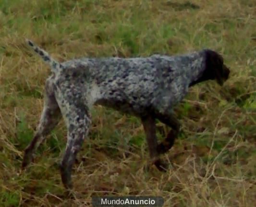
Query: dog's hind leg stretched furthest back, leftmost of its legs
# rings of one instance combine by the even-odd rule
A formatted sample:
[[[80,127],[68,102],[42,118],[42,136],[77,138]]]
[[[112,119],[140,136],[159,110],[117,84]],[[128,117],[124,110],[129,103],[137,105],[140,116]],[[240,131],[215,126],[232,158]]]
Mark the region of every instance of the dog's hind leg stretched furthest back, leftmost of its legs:
[[[44,109],[35,136],[24,150],[22,168],[25,168],[33,160],[34,153],[38,146],[59,123],[60,118],[61,111],[54,96],[53,84],[52,81],[48,79],[45,87]]]

